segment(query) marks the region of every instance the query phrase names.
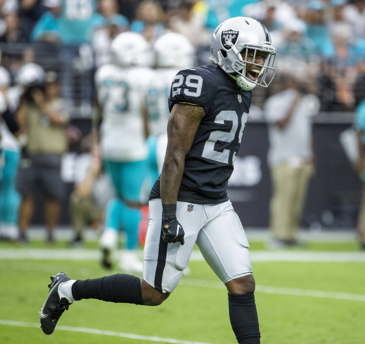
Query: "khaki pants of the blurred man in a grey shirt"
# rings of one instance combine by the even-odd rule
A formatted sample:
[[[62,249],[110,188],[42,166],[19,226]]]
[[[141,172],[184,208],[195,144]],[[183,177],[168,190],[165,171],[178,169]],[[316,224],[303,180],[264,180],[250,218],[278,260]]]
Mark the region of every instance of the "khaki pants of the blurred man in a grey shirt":
[[[296,239],[312,173],[311,162],[298,168],[286,162],[271,168],[270,226],[275,239]]]

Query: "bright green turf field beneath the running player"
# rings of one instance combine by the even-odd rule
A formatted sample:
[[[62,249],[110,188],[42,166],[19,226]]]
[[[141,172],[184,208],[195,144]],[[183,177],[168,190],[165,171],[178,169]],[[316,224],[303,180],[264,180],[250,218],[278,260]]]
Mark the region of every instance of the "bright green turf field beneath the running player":
[[[64,247],[59,242],[55,254]],[[96,243],[87,248],[96,249]],[[0,343],[236,343],[226,290],[199,259],[190,261],[191,274],[161,306],[82,300],[62,315],[53,335],[44,335],[38,310],[51,274],[64,271],[74,279],[109,274],[100,268],[97,251],[88,251],[96,252],[94,259],[66,259],[73,250],[62,259],[14,259],[53,249],[37,241],[0,243]],[[261,343],[365,343],[365,252],[356,242],[312,242],[283,252],[265,251],[257,241],[250,251]],[[311,256],[318,261],[307,261]]]

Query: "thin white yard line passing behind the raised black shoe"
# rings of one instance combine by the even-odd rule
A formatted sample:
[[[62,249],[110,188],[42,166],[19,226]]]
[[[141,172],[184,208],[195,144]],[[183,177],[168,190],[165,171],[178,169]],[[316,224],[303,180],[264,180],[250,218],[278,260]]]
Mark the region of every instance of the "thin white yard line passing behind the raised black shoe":
[[[13,321],[13,320],[4,320],[0,319],[0,325],[9,325],[9,326],[20,326],[20,327],[36,327],[39,328],[41,325],[37,322],[23,322],[23,321]],[[41,331],[41,329],[39,329]],[[123,333],[123,332],[115,332],[115,331],[106,331],[106,330],[98,330],[92,328],[84,328],[84,327],[74,327],[74,326],[57,326],[57,331],[72,331],[72,332],[82,332],[82,333],[92,333],[93,335],[103,335],[103,336],[115,336],[129,339],[139,339],[139,340],[148,340],[154,341],[158,343],[174,343],[174,344],[211,344],[211,343],[203,343],[199,341],[189,341],[189,340],[179,340],[173,338],[162,338],[162,337],[154,337],[154,336],[141,336],[135,335],[134,333]]]

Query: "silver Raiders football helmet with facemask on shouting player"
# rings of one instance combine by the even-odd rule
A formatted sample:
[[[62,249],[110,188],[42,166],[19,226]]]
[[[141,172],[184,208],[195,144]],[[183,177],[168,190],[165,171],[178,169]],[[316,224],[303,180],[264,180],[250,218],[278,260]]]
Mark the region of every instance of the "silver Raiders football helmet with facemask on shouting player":
[[[246,91],[256,85],[268,87],[275,75],[275,48],[266,27],[255,19],[227,19],[214,30],[210,49],[210,62]],[[258,63],[261,61],[263,64]]]

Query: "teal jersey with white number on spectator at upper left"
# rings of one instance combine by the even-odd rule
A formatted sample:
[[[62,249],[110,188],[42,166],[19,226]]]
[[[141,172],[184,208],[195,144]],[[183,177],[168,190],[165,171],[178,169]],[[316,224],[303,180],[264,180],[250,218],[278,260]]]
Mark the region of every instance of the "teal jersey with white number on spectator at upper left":
[[[97,0],[62,0],[58,18],[62,43],[76,45],[89,40],[91,28],[103,22],[103,17],[96,12],[96,4]]]

